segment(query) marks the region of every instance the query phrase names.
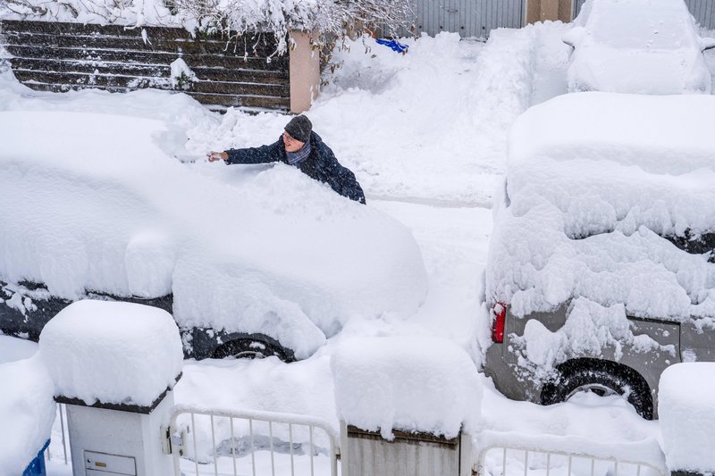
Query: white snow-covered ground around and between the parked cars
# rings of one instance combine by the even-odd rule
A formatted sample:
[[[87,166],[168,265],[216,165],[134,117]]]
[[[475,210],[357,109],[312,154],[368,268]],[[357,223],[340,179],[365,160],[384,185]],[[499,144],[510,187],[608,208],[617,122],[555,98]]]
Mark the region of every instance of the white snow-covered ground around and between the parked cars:
[[[506,132],[529,105],[565,92],[568,50],[559,41],[564,28],[547,23],[499,30],[486,45],[442,34],[407,40],[406,55],[369,41],[338,53],[342,68],[308,115],[341,163],[356,172],[369,206],[412,230],[428,271],[425,305],[409,320],[354,319],[315,355],[298,363],[275,358],[187,361],[176,387],[177,403],[303,413],[323,417],[337,428],[330,359],[346,338],[436,335],[467,348],[479,363],[475,337],[486,330],[476,297]],[[709,64],[715,71],[715,55],[709,55]],[[275,113],[208,113],[187,96],[161,92],[38,94],[7,73],[0,76],[0,110],[93,111],[160,119],[179,131],[176,155],[184,161],[202,160],[210,149],[273,142],[286,122]],[[184,146],[185,138],[189,141]],[[25,341],[0,337],[0,363],[25,358],[33,349]],[[584,396],[545,408],[509,401],[489,381],[484,388],[486,430],[572,446],[575,441],[591,447],[615,444],[661,463],[655,456],[660,454],[658,423],[644,422],[621,399]],[[49,474],[70,474],[61,460],[56,431],[51,451]],[[492,462],[491,467],[496,465]]]

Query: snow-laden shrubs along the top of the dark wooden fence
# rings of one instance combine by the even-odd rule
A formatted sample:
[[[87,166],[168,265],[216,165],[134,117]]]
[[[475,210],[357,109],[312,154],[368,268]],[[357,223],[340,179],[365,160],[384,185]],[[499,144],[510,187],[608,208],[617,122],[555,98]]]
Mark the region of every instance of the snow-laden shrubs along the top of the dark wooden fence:
[[[409,0],[0,0],[0,19],[174,26],[220,32],[227,41],[272,31],[282,54],[290,30],[317,31],[324,39],[367,26],[392,34],[414,21],[413,8]]]

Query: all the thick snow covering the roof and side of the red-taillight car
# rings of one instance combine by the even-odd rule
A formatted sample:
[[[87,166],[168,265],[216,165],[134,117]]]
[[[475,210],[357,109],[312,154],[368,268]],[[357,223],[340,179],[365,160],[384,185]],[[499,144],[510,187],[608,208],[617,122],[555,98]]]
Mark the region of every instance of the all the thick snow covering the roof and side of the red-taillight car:
[[[632,338],[626,315],[712,324],[715,264],[663,238],[715,230],[712,121],[711,96],[584,93],[523,114],[509,136],[487,299],[517,316],[579,296],[591,301],[569,308],[590,314],[571,336],[580,335],[575,345],[584,348]],[[586,343],[598,336],[586,322],[610,335]],[[531,354],[540,363],[554,359]]]

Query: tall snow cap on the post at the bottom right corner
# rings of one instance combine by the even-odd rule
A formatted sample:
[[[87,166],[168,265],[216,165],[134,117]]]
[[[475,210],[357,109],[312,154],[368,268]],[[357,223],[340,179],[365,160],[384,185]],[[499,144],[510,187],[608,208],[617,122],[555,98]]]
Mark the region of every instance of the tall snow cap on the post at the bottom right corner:
[[[715,471],[713,382],[713,363],[677,363],[660,375],[658,415],[670,471]]]

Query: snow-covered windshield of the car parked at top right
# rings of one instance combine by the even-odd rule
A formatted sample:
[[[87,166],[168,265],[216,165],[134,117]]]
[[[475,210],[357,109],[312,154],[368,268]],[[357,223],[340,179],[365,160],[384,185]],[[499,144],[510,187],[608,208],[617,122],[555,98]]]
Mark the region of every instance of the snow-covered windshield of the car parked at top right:
[[[645,50],[677,50],[692,46],[687,34],[692,26],[680,9],[659,8],[644,14],[633,6],[615,5],[605,11],[593,12],[589,18],[587,29],[597,43]]]

